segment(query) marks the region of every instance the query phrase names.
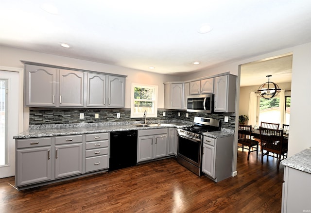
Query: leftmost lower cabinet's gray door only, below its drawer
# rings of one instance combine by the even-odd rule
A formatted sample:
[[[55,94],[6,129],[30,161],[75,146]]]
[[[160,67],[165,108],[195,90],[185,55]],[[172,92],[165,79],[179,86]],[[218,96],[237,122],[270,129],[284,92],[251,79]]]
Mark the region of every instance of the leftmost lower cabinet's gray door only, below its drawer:
[[[51,147],[17,149],[17,186],[51,180]]]

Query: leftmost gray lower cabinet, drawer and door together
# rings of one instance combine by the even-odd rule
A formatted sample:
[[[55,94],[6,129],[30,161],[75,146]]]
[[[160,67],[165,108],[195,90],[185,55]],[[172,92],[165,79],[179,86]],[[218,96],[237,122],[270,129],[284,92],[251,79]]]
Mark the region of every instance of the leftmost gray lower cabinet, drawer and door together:
[[[16,140],[16,186],[51,180],[51,137]]]

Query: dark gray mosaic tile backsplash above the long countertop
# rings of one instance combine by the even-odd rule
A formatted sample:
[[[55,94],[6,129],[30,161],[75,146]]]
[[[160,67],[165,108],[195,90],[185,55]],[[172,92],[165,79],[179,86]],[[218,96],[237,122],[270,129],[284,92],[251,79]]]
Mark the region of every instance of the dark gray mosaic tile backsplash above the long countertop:
[[[163,116],[165,112],[166,116]],[[84,113],[84,118],[80,119],[80,113]],[[99,114],[99,118],[95,118],[95,113]],[[120,113],[120,118],[117,118]],[[180,116],[178,116],[180,113]],[[189,117],[186,117],[186,113]],[[228,122],[224,122],[225,114],[206,114],[206,113],[190,113],[185,110],[166,110],[160,109],[157,117],[149,118],[152,120],[171,120],[180,119],[193,121],[194,116],[210,117],[221,120],[222,128],[235,128],[235,116],[229,116]],[[122,121],[143,121],[144,118],[131,118],[131,109],[85,109],[85,108],[30,108],[29,125],[40,124],[73,124],[73,123],[101,123],[101,122],[122,122]]]

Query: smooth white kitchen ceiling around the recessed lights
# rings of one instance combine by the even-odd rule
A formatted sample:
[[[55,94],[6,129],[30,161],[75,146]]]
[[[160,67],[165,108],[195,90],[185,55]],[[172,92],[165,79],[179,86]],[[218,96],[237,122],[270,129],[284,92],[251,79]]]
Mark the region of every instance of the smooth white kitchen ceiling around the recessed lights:
[[[162,74],[307,42],[311,0],[0,0],[0,45]]]

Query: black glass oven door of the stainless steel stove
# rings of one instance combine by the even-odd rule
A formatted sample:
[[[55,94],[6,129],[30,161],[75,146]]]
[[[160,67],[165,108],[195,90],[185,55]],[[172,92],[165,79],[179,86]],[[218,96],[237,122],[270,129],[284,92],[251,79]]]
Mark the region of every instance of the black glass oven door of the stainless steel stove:
[[[179,134],[177,155],[191,164],[201,167],[201,139]]]

